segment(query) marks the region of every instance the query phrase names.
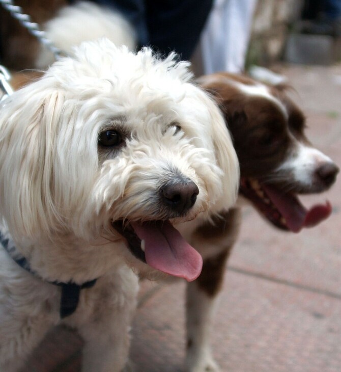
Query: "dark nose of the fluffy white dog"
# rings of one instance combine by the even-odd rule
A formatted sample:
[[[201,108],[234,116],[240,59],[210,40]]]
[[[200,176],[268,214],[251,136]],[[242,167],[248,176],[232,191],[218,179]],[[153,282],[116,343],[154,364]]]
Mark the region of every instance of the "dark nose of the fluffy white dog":
[[[197,185],[189,178],[183,177],[168,181],[161,188],[163,203],[179,215],[183,215],[194,205],[198,194]]]

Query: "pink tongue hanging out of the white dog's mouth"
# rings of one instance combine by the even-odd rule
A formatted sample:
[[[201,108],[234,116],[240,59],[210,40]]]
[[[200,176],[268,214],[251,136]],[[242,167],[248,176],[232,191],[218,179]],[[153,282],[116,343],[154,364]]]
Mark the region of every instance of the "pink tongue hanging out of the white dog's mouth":
[[[145,241],[146,261],[152,268],[188,281],[200,275],[203,267],[202,256],[184,240],[170,222],[131,225],[140,240]]]

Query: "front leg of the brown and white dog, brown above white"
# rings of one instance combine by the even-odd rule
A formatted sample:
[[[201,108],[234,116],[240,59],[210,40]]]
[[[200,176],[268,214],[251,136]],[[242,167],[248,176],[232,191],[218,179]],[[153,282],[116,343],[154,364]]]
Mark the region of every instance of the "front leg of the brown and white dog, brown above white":
[[[187,355],[188,372],[218,371],[209,344],[209,337],[218,302],[225,265],[236,241],[240,225],[240,210],[232,209],[223,220],[216,219],[210,226],[202,226],[198,231],[203,243],[214,243],[218,253],[204,259],[203,270],[197,280],[187,285]],[[207,232],[207,234],[206,234]]]

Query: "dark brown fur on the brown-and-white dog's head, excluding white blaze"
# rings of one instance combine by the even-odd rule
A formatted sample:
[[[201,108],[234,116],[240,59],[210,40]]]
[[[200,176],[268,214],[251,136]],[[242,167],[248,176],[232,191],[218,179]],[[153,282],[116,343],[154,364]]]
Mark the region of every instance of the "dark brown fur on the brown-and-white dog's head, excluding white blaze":
[[[234,74],[216,73],[198,80],[215,96],[233,137],[242,177],[262,180],[286,158],[291,149],[289,133],[302,140],[304,116],[286,95],[287,88],[270,87],[271,94],[282,102],[288,118],[277,104],[262,96],[248,95],[233,82],[255,82]]]

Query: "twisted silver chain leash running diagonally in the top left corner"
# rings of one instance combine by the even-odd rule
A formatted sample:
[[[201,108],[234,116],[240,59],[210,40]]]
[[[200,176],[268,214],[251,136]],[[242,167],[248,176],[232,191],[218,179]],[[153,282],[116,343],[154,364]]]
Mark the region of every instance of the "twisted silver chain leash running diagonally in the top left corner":
[[[57,48],[51,40],[46,37],[45,31],[40,30],[39,24],[32,22],[28,14],[24,14],[23,9],[13,4],[12,0],[0,0],[0,4],[9,11],[13,18],[17,19],[32,35],[34,35],[44,46],[46,46],[54,55],[56,60],[65,56],[65,53]]]

